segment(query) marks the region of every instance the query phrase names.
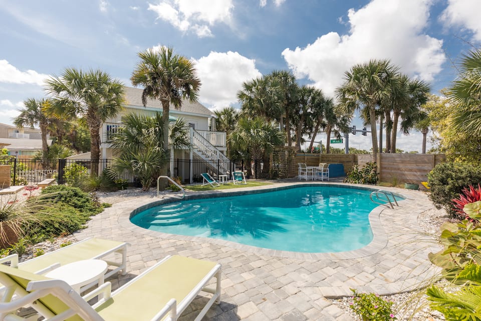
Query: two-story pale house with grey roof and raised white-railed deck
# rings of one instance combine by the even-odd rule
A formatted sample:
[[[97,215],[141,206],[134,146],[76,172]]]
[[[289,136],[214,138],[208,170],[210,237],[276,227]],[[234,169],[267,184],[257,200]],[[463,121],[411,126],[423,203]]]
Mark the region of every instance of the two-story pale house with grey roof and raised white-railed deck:
[[[126,106],[115,118],[109,119],[102,125],[101,131],[101,157],[112,158],[113,150],[107,142],[108,135],[119,126],[122,126],[122,116],[130,113],[150,114],[162,112],[162,104],[159,100],[147,101],[144,107],[142,104],[142,89],[126,87]],[[192,149],[172,151],[170,162],[171,175],[178,175],[184,181],[192,181],[192,176],[198,175],[193,169],[193,163],[204,162],[205,167],[197,171],[216,171],[226,174],[229,171],[229,159],[225,156],[226,136],[225,132],[215,131],[215,115],[202,104],[190,103],[188,100],[182,102],[180,109],[170,108],[169,116],[172,118],[183,118],[189,126]],[[180,159],[182,162],[174,162]],[[189,162],[190,161],[190,162]]]

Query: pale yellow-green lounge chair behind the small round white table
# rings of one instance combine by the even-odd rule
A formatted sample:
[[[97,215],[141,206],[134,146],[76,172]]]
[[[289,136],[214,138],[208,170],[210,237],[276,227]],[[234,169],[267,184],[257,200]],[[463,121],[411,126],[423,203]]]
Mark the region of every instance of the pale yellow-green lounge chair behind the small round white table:
[[[87,238],[83,241],[37,256],[36,258],[20,264],[19,256],[17,254],[12,254],[0,259],[0,264],[10,262],[10,266],[12,267],[18,267],[20,270],[42,274],[52,268],[58,267],[59,265],[87,259],[104,259],[113,253],[118,253],[121,255],[121,259],[118,261],[104,259],[107,264],[115,267],[105,274],[105,278],[108,278],[119,271],[122,271],[122,275],[127,273],[127,245],[129,244],[125,242],[100,238]]]

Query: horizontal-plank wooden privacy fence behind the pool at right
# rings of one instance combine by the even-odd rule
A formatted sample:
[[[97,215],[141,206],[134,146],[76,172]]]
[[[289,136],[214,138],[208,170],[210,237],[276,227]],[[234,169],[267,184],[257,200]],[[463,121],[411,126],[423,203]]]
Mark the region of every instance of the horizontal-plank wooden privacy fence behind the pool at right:
[[[296,154],[295,163],[306,163],[316,166],[319,163],[342,164],[344,173],[348,173],[354,165],[364,167],[373,162],[371,154]],[[399,183],[415,183],[427,181],[427,174],[439,163],[445,162],[444,154],[378,154],[379,178],[381,182],[396,180]]]

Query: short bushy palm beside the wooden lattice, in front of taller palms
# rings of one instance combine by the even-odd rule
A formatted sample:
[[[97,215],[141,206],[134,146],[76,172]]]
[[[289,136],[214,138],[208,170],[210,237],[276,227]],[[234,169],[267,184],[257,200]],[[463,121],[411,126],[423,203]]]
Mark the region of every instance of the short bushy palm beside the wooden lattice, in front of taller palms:
[[[284,144],[284,133],[273,122],[261,117],[242,117],[229,137],[232,148],[238,150],[252,162],[262,159],[275,146]],[[258,173],[256,169],[255,173]],[[257,178],[257,177],[256,177]]]

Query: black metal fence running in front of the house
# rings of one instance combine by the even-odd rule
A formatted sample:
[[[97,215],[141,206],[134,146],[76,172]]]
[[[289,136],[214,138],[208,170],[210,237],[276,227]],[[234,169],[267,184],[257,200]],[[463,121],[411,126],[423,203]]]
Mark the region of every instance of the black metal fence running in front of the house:
[[[111,165],[111,159],[100,159],[92,162],[90,159],[0,159],[0,165],[10,165],[11,185],[38,184],[45,179],[55,178],[58,184],[69,183],[83,176],[90,176],[91,171],[98,167],[98,173]],[[98,166],[96,166],[98,165]],[[174,159],[174,177],[179,177],[185,184],[202,182],[200,174],[209,173],[218,179],[231,173],[243,171],[248,179],[268,179],[269,165],[265,166],[262,159],[257,161],[203,161],[201,159]],[[125,174],[121,179],[134,183],[135,177]]]

